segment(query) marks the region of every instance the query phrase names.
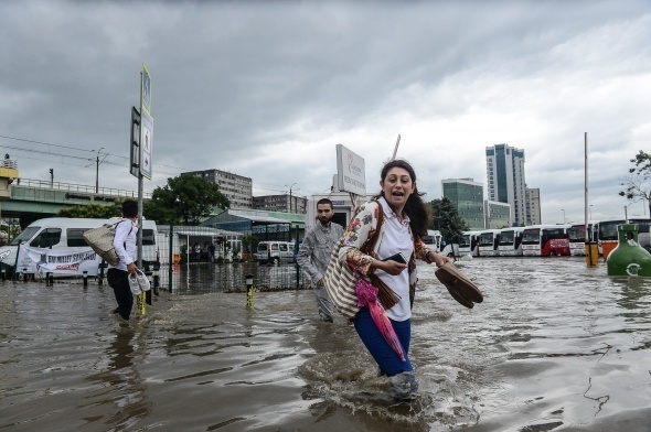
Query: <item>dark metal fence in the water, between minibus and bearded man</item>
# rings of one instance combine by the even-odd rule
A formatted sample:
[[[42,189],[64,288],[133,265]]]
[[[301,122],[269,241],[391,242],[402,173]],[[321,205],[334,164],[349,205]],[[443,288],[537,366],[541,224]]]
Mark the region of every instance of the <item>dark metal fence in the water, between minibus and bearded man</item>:
[[[247,277],[258,291],[302,290],[309,281],[294,253],[280,262],[258,262],[257,238],[202,226],[158,226],[160,287],[174,294],[245,292]]]

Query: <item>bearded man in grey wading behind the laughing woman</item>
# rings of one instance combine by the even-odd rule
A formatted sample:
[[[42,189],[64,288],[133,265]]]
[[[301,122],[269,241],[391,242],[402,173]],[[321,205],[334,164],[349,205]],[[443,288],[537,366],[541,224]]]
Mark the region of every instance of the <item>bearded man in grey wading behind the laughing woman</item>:
[[[311,287],[317,294],[319,316],[329,323],[332,322],[333,306],[328,290],[323,284],[323,277],[326,276],[328,262],[330,262],[332,247],[343,235],[341,225],[331,222],[332,216],[334,216],[332,202],[328,198],[319,199],[317,202],[319,223],[306,234],[296,258],[301,269],[310,278]]]

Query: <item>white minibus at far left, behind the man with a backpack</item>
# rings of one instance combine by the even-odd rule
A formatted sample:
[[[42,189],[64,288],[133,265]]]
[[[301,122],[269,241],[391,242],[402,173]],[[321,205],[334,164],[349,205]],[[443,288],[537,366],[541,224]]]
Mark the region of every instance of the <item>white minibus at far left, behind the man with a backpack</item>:
[[[9,245],[0,247],[0,267],[19,273],[44,277],[96,276],[102,258],[90,249],[84,233],[121,218],[92,219],[50,217],[30,224]],[[142,222],[143,267],[158,258],[157,227],[153,220]]]

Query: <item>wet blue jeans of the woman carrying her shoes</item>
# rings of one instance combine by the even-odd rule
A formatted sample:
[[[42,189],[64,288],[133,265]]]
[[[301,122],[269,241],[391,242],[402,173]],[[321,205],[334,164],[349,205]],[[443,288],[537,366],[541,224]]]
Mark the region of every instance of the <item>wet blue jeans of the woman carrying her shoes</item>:
[[[391,345],[386,342],[377,326],[371,317],[369,307],[360,309],[360,312],[355,315],[353,324],[360,335],[360,338],[369,349],[369,353],[373,356],[377,366],[380,366],[380,372],[393,377],[394,375],[412,371],[412,361],[409,361],[409,342],[412,339],[412,320],[407,321],[393,321],[391,320],[393,330],[395,331],[403,350],[405,352],[405,361],[402,361],[398,355],[393,350]]]

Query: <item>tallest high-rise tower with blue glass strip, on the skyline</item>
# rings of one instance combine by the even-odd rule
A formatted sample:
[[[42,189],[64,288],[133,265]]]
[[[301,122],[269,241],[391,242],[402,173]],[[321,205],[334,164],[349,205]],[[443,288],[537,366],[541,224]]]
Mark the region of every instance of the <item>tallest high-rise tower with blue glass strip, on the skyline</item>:
[[[526,218],[526,183],[524,150],[506,144],[485,148],[488,199],[511,205],[511,225],[524,226]]]

